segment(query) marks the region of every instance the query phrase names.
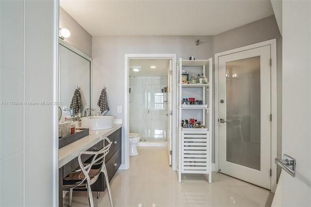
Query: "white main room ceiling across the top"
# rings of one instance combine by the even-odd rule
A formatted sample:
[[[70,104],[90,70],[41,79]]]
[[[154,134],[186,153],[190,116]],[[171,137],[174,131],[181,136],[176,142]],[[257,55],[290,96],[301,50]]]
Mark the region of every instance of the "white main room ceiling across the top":
[[[273,15],[270,0],[60,0],[92,36],[217,35]]]

